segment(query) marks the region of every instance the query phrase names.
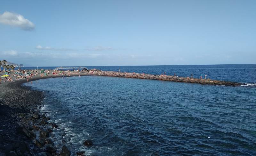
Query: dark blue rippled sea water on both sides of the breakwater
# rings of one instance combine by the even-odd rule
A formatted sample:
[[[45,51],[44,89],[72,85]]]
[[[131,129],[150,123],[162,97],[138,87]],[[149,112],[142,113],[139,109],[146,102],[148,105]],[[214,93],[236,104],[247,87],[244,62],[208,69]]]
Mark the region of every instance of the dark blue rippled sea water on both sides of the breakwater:
[[[60,125],[52,139],[76,155],[256,155],[256,65],[97,67],[158,74],[191,72],[246,82],[228,87],[106,76],[26,83],[44,91]],[[65,136],[62,136],[65,132]],[[83,141],[92,139],[92,147]]]

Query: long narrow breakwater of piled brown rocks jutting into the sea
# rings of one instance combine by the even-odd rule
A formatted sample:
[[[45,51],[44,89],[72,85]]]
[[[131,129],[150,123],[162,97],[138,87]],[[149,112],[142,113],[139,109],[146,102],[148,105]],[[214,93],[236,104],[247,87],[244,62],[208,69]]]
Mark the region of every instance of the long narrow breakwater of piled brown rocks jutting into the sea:
[[[128,78],[138,78],[138,79],[151,79],[151,80],[163,80],[163,81],[173,81],[173,82],[188,82],[188,83],[199,83],[199,84],[209,84],[209,85],[225,85],[225,86],[241,86],[243,83],[230,82],[230,81],[219,81],[211,79],[196,79],[196,78],[186,78],[177,77],[172,75],[153,75],[153,74],[140,74],[140,73],[127,73],[127,72],[113,72],[113,71],[87,71],[88,74],[101,75],[101,76],[116,76],[116,77],[128,77]]]

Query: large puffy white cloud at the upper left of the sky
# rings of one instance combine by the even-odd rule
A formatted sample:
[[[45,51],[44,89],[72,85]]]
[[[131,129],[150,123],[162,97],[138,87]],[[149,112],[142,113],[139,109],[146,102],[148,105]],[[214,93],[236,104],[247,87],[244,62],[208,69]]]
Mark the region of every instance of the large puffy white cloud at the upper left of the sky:
[[[0,23],[20,27],[22,30],[31,31],[35,29],[35,24],[24,18],[20,14],[5,11],[0,14]]]

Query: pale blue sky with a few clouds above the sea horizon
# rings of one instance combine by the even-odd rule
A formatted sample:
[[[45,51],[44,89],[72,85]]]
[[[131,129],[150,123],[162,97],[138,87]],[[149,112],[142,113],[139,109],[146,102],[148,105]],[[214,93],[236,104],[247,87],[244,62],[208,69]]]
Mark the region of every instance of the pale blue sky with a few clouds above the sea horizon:
[[[256,1],[2,1],[0,59],[31,66],[255,64]]]

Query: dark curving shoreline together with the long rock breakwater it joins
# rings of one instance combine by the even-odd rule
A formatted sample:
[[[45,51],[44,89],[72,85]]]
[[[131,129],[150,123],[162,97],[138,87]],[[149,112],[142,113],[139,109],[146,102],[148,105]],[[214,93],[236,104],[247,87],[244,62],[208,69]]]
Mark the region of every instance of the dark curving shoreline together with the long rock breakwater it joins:
[[[99,76],[117,76],[127,78],[140,78],[140,79],[155,79],[163,81],[176,81],[182,82],[183,77],[173,77],[167,75],[151,75],[151,74],[138,74],[138,73],[121,73],[121,72],[110,72],[110,71],[86,71],[83,73],[72,73],[69,75],[65,74],[65,77],[69,76],[85,76],[85,75],[99,75]],[[29,82],[36,81],[39,79],[62,77],[63,75],[48,75],[41,77],[40,75],[29,78]],[[182,80],[181,80],[181,79]],[[188,82],[189,79],[185,79],[183,82]],[[238,82],[226,82],[216,81],[210,82],[208,79],[190,79],[191,83],[210,84],[210,85],[228,85],[228,86],[239,86],[241,83]],[[52,133],[54,128],[52,126],[55,123],[48,123],[45,121],[45,116],[39,114],[40,108],[42,108],[42,101],[44,99],[44,93],[37,90],[32,90],[30,87],[22,86],[23,83],[27,82],[26,79],[16,80],[15,82],[4,82],[0,85],[0,155],[8,155],[10,152],[15,152],[17,155],[38,155],[47,151],[44,147],[50,146],[54,148],[51,143],[51,139],[48,139],[48,135],[43,139],[39,139],[39,131],[48,131]],[[205,83],[209,82],[209,83]],[[217,83],[216,83],[217,82]],[[33,116],[39,117],[33,117]],[[45,121],[46,124],[42,124]],[[52,126],[49,129],[49,125]],[[34,136],[36,135],[36,137]],[[45,139],[48,143],[45,144]],[[46,141],[47,142],[47,141]],[[36,145],[35,145],[36,144]],[[45,146],[43,145],[45,144]],[[47,145],[48,144],[48,145]],[[65,144],[63,143],[63,147]],[[54,150],[53,150],[54,151]],[[57,153],[56,153],[57,151]],[[58,155],[62,149],[55,149],[53,153],[47,153]],[[64,151],[70,152],[66,147]],[[59,152],[59,153],[58,153]],[[73,151],[75,152],[75,151]],[[45,153],[46,154],[46,153]],[[39,154],[40,155],[40,154]]]

